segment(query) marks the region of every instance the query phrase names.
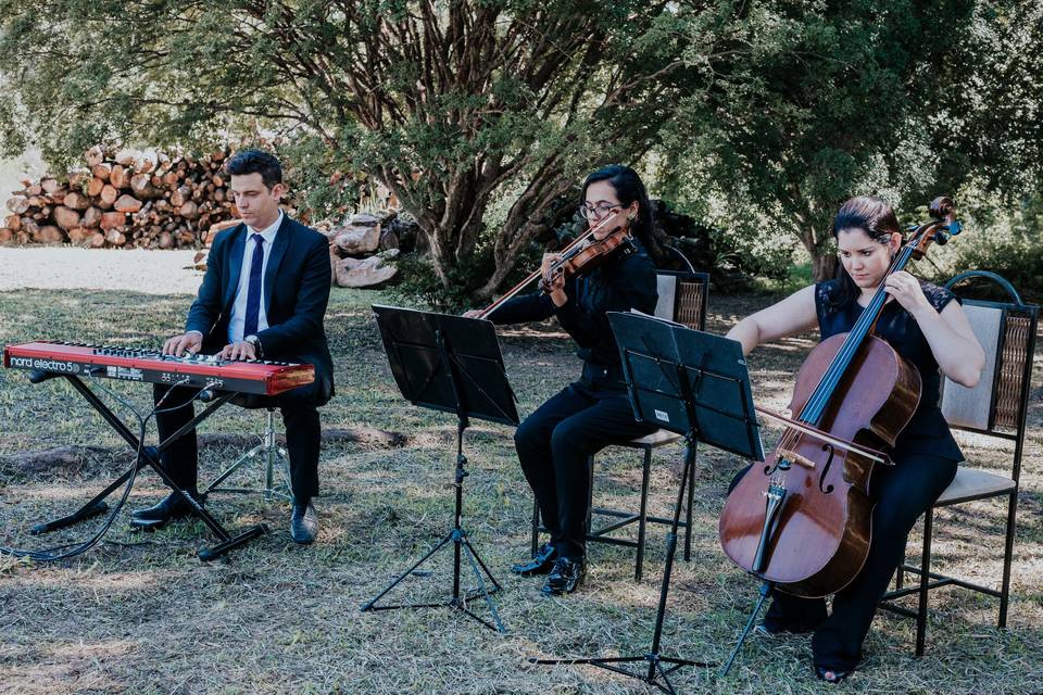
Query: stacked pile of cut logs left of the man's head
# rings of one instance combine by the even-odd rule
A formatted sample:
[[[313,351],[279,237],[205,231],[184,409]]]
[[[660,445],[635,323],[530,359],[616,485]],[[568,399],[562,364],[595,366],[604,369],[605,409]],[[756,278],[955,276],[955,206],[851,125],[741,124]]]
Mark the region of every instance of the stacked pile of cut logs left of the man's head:
[[[227,155],[91,148],[87,166],[64,181],[22,181],[0,215],[0,243],[198,248],[212,225],[234,216]]]

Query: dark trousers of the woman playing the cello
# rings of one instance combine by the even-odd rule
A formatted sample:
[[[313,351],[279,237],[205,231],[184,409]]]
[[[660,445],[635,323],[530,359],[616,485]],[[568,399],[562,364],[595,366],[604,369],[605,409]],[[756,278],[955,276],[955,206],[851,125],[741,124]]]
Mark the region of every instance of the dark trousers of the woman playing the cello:
[[[920,516],[956,476],[956,462],[928,454],[895,454],[894,467],[875,471],[872,540],[858,577],[833,596],[826,616],[825,598],[797,598],[776,592],[765,623],[774,628],[818,626],[812,639],[816,666],[835,671],[854,670],[862,659],[862,643],[905,555],[905,542]]]

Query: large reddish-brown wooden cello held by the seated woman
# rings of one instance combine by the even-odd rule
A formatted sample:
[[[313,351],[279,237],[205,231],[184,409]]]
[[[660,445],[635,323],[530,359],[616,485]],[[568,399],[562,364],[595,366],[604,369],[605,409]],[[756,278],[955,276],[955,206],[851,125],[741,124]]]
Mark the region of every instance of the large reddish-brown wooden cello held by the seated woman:
[[[953,203],[938,198],[887,276],[959,233]],[[920,374],[874,334],[888,300],[881,281],[852,330],[819,343],[801,366],[775,451],[752,466],[721,513],[725,554],[778,590],[816,598],[846,586],[869,551],[874,470],[920,401]]]

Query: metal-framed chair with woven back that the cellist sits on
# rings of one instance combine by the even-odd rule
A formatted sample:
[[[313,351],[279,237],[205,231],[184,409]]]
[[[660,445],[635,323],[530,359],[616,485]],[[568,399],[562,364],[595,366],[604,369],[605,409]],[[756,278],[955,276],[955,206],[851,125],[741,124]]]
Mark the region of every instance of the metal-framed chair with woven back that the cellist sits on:
[[[967,389],[948,379],[943,380],[942,413],[954,430],[975,432],[990,441],[1005,442],[1010,452],[1009,466],[1003,470],[983,470],[964,462],[952,484],[942,493],[934,506],[923,515],[923,548],[920,565],[904,564],[899,568],[896,589],[883,597],[881,607],[904,616],[916,618],[916,655],[923,655],[927,630],[928,594],[941,586],[962,586],[1000,599],[997,626],[1007,624],[1007,605],[1010,592],[1010,561],[1016,533],[1015,518],[1018,507],[1018,479],[1021,473],[1021,455],[1025,448],[1025,422],[1028,409],[1032,356],[1035,350],[1035,330],[1039,307],[1026,304],[1018,292],[1002,277],[983,270],[973,270],[956,276],[946,288],[960,295],[968,294],[967,286],[989,281],[1001,291],[1001,301],[965,299],[967,314],[978,341],[985,352],[985,366],[981,379],[973,389]],[[1003,567],[1000,587],[982,586],[969,581],[947,577],[931,570],[931,540],[934,509],[955,507],[968,502],[1002,497],[1006,501],[1006,525],[1003,535]],[[968,514],[975,510],[967,509]],[[904,572],[919,576],[920,581],[904,586]],[[894,605],[895,598],[916,594],[919,603],[916,610]]]

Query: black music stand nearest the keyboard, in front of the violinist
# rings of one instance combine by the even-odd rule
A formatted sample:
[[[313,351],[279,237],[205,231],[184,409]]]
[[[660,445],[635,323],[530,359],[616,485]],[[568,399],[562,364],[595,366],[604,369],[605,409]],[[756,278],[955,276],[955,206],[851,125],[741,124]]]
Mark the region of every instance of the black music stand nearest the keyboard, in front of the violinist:
[[[470,425],[469,418],[518,425],[514,392],[507,381],[492,321],[376,304],[373,311],[391,364],[391,374],[402,395],[414,405],[456,414],[456,472],[453,482],[453,488],[456,490],[456,508],[453,527],[445,538],[410,569],[399,574],[384,591],[363,605],[361,610],[445,606],[470,616],[487,628],[503,632],[503,623],[500,621],[491,597],[491,594],[500,591],[500,583],[472,545],[467,532],[460,526],[464,478],[468,475],[465,470],[467,457],[463,453],[463,442],[464,430]],[[394,606],[376,605],[385,594],[450,543],[453,544],[454,551],[453,593],[448,601]],[[460,589],[462,553],[466,553],[467,561],[478,583],[476,592],[463,595]],[[482,572],[492,583],[491,589],[486,586]],[[467,602],[478,596],[485,597],[489,612],[492,615],[492,622],[480,618],[467,608]]]

